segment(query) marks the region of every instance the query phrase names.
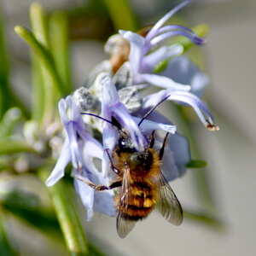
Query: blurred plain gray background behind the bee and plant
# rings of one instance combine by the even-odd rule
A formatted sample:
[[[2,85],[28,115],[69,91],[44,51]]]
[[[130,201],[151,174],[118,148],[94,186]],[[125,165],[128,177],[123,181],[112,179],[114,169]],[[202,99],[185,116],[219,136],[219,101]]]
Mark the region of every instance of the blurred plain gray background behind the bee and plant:
[[[67,0],[38,2],[48,10],[83,3]],[[12,52],[11,82],[16,84],[15,90],[20,91],[20,97],[25,101],[30,88],[29,51],[15,35],[13,27],[18,24],[29,26],[31,3],[28,0],[2,0],[8,48]],[[157,17],[169,10],[163,0],[133,0],[131,4],[141,15],[145,15],[145,6],[149,14],[155,15],[155,9],[159,9]],[[142,6],[144,8],[140,9]],[[189,26],[199,23],[210,26],[207,45],[201,49],[211,79],[205,99],[220,131],[207,131],[200,121],[193,125],[193,129],[196,143],[201,146],[201,158],[209,163],[205,172],[217,207],[216,217],[224,223],[224,231],[218,232],[188,219],[175,227],[166,223],[158,212],[153,212],[121,240],[115,230],[114,218],[95,215],[90,223],[86,223],[85,211],[81,208],[80,217],[90,240],[100,238],[100,246],[108,255],[239,256],[256,253],[256,1],[195,0],[183,14]],[[152,20],[157,17],[153,16]],[[100,42],[80,41],[71,46],[73,81],[80,86],[106,55]],[[171,185],[183,207],[196,210],[200,205],[190,172],[193,171]],[[25,244],[31,236],[29,233],[27,236],[19,232],[14,234]]]

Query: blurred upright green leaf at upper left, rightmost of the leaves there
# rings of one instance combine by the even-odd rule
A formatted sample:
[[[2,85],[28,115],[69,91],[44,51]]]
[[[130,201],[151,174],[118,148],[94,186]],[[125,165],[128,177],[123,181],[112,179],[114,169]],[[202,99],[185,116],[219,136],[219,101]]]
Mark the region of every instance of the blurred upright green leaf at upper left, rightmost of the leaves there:
[[[71,88],[70,60],[68,41],[68,20],[64,11],[49,15],[49,48],[55,61],[63,93],[69,94]]]

